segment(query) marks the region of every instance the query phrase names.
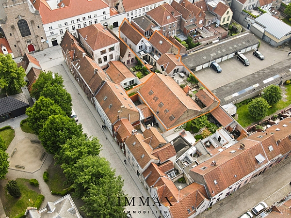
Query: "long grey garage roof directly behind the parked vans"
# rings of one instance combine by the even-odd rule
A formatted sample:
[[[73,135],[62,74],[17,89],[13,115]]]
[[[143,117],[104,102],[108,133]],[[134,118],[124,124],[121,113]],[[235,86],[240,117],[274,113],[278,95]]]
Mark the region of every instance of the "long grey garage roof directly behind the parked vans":
[[[257,44],[259,44],[259,40],[256,36],[250,31],[247,31],[184,55],[182,56],[182,62],[190,70],[194,70],[195,67],[210,62],[211,60],[214,61],[226,55],[241,51],[243,48]]]

